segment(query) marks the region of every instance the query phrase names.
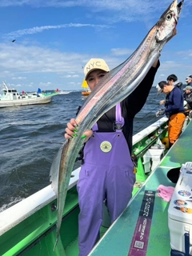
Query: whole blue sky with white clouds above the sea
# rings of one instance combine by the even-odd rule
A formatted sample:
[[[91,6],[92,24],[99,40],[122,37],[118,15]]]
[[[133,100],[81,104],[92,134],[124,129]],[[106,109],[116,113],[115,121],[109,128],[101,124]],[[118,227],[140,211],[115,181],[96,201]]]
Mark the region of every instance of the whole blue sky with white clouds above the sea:
[[[90,58],[118,66],[170,5],[170,0],[1,0],[0,80],[18,91],[81,90]],[[192,74],[192,1],[178,34],[162,50],[154,86]],[[16,40],[12,42],[12,40]]]

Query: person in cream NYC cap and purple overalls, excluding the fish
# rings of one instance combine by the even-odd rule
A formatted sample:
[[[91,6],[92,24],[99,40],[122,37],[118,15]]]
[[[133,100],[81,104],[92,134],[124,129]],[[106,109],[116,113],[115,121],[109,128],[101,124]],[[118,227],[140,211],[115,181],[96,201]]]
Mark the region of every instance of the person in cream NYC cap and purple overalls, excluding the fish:
[[[158,67],[157,59],[134,92],[102,115],[92,130],[86,130],[83,135],[86,139],[77,186],[79,256],[89,254],[98,242],[103,201],[106,200],[113,223],[132,197],[135,182],[135,162],[131,158],[134,116],[146,102]],[[87,62],[84,74],[91,91],[109,71],[103,59],[91,58]],[[75,119],[71,119],[65,138],[76,137],[77,127]]]

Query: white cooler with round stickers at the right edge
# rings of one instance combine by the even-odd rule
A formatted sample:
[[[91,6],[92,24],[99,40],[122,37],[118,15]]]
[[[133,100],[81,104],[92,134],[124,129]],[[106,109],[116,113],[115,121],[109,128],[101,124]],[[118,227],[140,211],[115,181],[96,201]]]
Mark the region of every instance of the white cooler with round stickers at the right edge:
[[[192,162],[182,165],[168,209],[171,256],[192,255]]]

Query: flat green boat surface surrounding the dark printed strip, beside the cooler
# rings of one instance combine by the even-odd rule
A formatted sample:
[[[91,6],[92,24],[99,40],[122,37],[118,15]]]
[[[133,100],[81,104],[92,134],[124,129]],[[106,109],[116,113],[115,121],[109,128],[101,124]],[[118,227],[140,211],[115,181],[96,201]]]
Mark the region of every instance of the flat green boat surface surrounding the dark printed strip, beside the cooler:
[[[147,179],[145,185],[138,194],[132,198],[130,205],[123,214],[110,226],[109,230],[94,247],[89,255],[93,256],[126,256],[130,255],[130,246],[134,237],[135,228],[138,222],[138,214],[142,206],[142,199],[145,191],[155,191],[154,211],[150,226],[150,234],[147,236],[148,246],[146,256],[169,256],[170,255],[170,230],[168,228],[168,207],[169,202],[158,197],[158,186],[175,186],[166,177],[167,172],[175,167],[182,166],[182,163],[191,162],[190,152],[192,142],[192,122],[186,127],[178,141],[162,158],[162,162],[154,173]],[[134,254],[131,254],[134,255]]]

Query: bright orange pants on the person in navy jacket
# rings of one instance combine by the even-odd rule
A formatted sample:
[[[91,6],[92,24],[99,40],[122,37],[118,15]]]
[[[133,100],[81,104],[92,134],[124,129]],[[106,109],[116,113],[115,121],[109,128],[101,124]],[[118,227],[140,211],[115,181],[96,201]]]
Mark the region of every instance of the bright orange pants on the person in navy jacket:
[[[174,144],[179,135],[182,133],[182,126],[185,120],[186,115],[183,113],[171,115],[168,127],[168,137],[171,144]]]

